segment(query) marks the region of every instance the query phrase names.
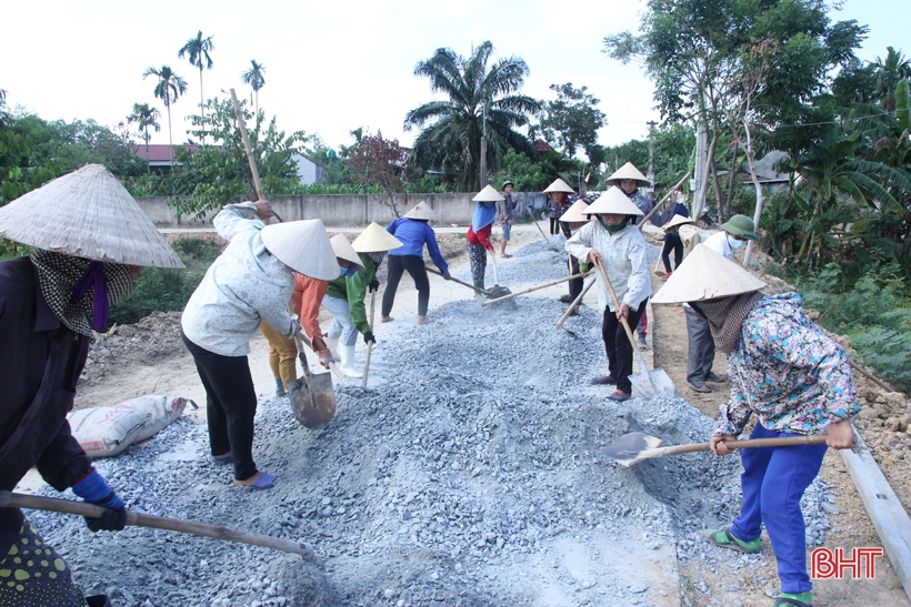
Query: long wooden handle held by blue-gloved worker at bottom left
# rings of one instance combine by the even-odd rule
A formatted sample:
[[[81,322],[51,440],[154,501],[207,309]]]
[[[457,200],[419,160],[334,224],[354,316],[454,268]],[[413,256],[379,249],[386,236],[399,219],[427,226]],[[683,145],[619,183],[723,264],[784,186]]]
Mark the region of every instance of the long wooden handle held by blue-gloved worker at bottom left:
[[[99,518],[108,508],[102,508],[96,504],[87,502],[72,502],[70,499],[60,499],[59,497],[42,497],[38,495],[23,495],[19,493],[0,492],[0,507],[6,508],[29,508],[32,510],[48,510],[63,514],[77,514],[88,516],[90,518]],[[181,518],[166,518],[163,516],[154,516],[151,514],[142,514],[133,510],[127,510],[127,525],[138,527],[152,527],[156,529],[169,529],[172,532],[181,532],[186,534],[201,535],[211,537],[212,539],[222,539],[226,542],[239,542],[241,544],[251,544],[253,546],[263,546],[266,548],[274,548],[284,553],[292,553],[303,556],[307,559],[313,560],[318,564],[319,559],[313,553],[313,548],[309,544],[292,542],[290,539],[281,539],[278,537],[270,537],[268,535],[253,534],[250,532],[241,532],[228,527],[220,527],[216,525],[206,525],[194,520],[183,520]]]

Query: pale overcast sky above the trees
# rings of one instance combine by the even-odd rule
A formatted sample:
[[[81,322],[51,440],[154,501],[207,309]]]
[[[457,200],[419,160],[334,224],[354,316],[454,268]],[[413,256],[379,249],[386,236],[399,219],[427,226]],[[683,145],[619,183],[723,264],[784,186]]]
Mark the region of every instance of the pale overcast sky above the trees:
[[[163,104],[152,95],[146,68],[170,65],[188,84],[171,107],[174,143],[184,141],[183,117],[199,104],[199,71],[177,51],[202,30],[213,36],[212,70],[203,72],[206,97],[234,88],[249,98],[241,72],[256,59],[266,65],[260,108],[286,131],[319,133],[331,146],[350,144],[349,131],[382,130],[409,145],[406,113],[432,99],[428,80],[412,71],[437,48],[462,55],[490,40],[494,59],[515,54],[531,74],[522,92],[552,99],[550,84],[587,85],[601,100],[607,145],[647,133],[652,85],[638,64],[622,65],[601,52],[610,33],[637,30],[643,1],[564,0],[30,0],[4,7],[0,37],[0,89],[10,107],[48,120],[93,118],[114,125],[148,102],[162,112],[153,143],[168,143]],[[834,19],[870,26],[859,53],[873,60],[885,47],[907,42],[900,28],[911,18],[909,0],[847,0]],[[904,44],[911,54],[911,44]]]

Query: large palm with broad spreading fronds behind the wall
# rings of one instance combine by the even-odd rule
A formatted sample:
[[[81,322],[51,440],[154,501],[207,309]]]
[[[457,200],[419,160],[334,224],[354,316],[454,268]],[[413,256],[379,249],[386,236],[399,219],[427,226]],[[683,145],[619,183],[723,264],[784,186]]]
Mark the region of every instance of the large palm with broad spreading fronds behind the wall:
[[[433,92],[444,93],[447,101],[430,101],[411,110],[404,129],[424,128],[414,141],[409,164],[414,170],[442,169],[444,176],[457,179],[467,191],[478,191],[481,138],[488,138],[488,166],[497,171],[510,148],[533,153],[529,139],[514,131],[529,123],[540,110],[540,102],[512,94],[524,83],[528,65],[519,57],[500,59],[490,69],[493,52],[490,41],[473,49],[468,59],[452,49],[437,49],[433,57],[414,67],[414,75],[430,79]]]

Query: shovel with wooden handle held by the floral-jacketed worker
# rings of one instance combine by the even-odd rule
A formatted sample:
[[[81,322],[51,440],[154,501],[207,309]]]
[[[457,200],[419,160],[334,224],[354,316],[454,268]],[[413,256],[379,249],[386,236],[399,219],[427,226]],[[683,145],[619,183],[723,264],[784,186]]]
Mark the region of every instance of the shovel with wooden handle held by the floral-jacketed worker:
[[[825,444],[827,435],[817,434],[813,436],[784,436],[782,438],[749,438],[745,441],[724,441],[730,449],[745,449],[754,447],[788,447],[797,445],[822,445]],[[689,445],[673,445],[662,447],[663,441],[657,436],[649,436],[641,432],[624,434],[613,442],[609,447],[601,447],[598,453],[609,457],[621,466],[630,467],[643,459],[654,459],[665,455],[677,455],[679,453],[694,453],[699,451],[711,451],[711,443],[691,443]]]

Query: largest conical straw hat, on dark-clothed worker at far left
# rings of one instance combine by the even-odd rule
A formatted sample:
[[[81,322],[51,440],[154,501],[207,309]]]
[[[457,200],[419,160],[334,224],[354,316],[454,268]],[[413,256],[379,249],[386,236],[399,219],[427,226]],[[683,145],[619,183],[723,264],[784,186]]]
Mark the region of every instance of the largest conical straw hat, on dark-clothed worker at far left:
[[[87,164],[0,209],[0,236],[88,260],[183,267],[133,196],[100,164]]]

